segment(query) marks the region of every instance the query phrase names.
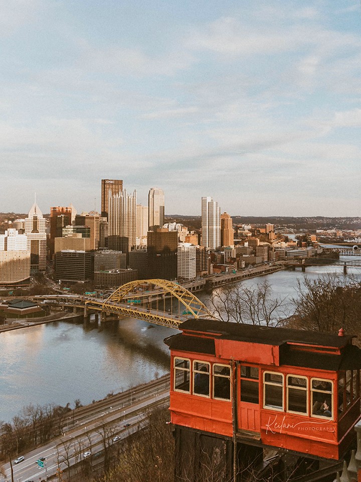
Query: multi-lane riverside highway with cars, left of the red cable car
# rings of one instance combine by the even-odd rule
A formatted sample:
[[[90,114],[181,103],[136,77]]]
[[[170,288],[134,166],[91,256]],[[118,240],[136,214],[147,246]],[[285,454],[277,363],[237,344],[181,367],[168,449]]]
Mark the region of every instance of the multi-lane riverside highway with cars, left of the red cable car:
[[[63,435],[49,443],[23,453],[24,461],[4,464],[5,482],[38,482],[50,480],[58,469],[65,470],[93,457],[121,441],[146,424],[147,413],[169,404],[169,376],[109,397],[95,404],[69,412],[64,420]],[[87,454],[87,452],[90,452]],[[45,457],[44,467],[37,460]],[[2,477],[2,478],[1,478]]]

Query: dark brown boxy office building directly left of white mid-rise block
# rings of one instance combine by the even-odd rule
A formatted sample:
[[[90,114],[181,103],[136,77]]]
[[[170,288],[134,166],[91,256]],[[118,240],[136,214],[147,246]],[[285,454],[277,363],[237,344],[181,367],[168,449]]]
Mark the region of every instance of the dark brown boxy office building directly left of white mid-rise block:
[[[148,277],[174,280],[177,277],[177,231],[158,228],[148,231]]]

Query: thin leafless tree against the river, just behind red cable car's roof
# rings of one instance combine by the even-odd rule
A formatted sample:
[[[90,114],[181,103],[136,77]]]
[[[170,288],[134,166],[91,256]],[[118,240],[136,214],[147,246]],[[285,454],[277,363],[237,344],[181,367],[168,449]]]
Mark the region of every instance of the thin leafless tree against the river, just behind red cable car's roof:
[[[214,290],[212,314],[222,321],[277,326],[284,318],[285,300],[275,298],[267,280],[251,288],[240,284]]]

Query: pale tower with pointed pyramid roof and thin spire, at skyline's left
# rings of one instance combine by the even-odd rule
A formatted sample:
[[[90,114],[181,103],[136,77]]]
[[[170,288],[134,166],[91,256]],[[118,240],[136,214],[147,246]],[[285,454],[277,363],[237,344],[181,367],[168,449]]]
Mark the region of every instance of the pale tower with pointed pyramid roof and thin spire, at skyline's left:
[[[46,270],[47,234],[45,218],[35,202],[25,219],[27,249],[30,251],[30,267],[32,271]]]

